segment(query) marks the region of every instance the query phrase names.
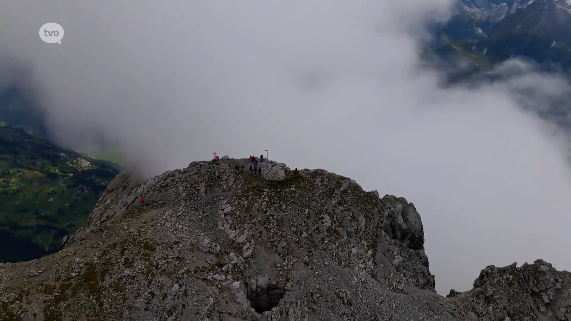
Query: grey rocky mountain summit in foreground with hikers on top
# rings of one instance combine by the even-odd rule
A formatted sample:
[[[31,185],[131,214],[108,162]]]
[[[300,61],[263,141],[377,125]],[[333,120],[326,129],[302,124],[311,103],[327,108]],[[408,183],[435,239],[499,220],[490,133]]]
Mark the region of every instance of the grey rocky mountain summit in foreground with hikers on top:
[[[0,267],[0,319],[570,320],[568,272],[486,267],[444,298],[406,199],[240,163],[119,175],[62,251]]]

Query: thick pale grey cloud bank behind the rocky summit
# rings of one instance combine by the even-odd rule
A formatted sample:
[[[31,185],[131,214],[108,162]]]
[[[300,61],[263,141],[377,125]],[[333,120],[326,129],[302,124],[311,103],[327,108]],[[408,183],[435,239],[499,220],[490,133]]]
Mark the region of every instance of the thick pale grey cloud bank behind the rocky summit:
[[[148,174],[269,149],[404,196],[440,293],[468,290],[490,264],[571,270],[568,140],[522,111],[568,84],[514,62],[504,82],[441,89],[417,53],[423,23],[449,5],[3,1],[0,62],[31,70],[59,142],[103,133]],[[62,45],[41,41],[46,22],[63,26]]]

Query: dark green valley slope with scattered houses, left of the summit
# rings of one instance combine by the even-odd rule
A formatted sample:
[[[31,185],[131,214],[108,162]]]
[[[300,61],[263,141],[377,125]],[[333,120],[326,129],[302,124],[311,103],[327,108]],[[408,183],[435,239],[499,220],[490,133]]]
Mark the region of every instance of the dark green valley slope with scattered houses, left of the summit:
[[[57,251],[118,173],[113,163],[0,127],[0,262]]]

